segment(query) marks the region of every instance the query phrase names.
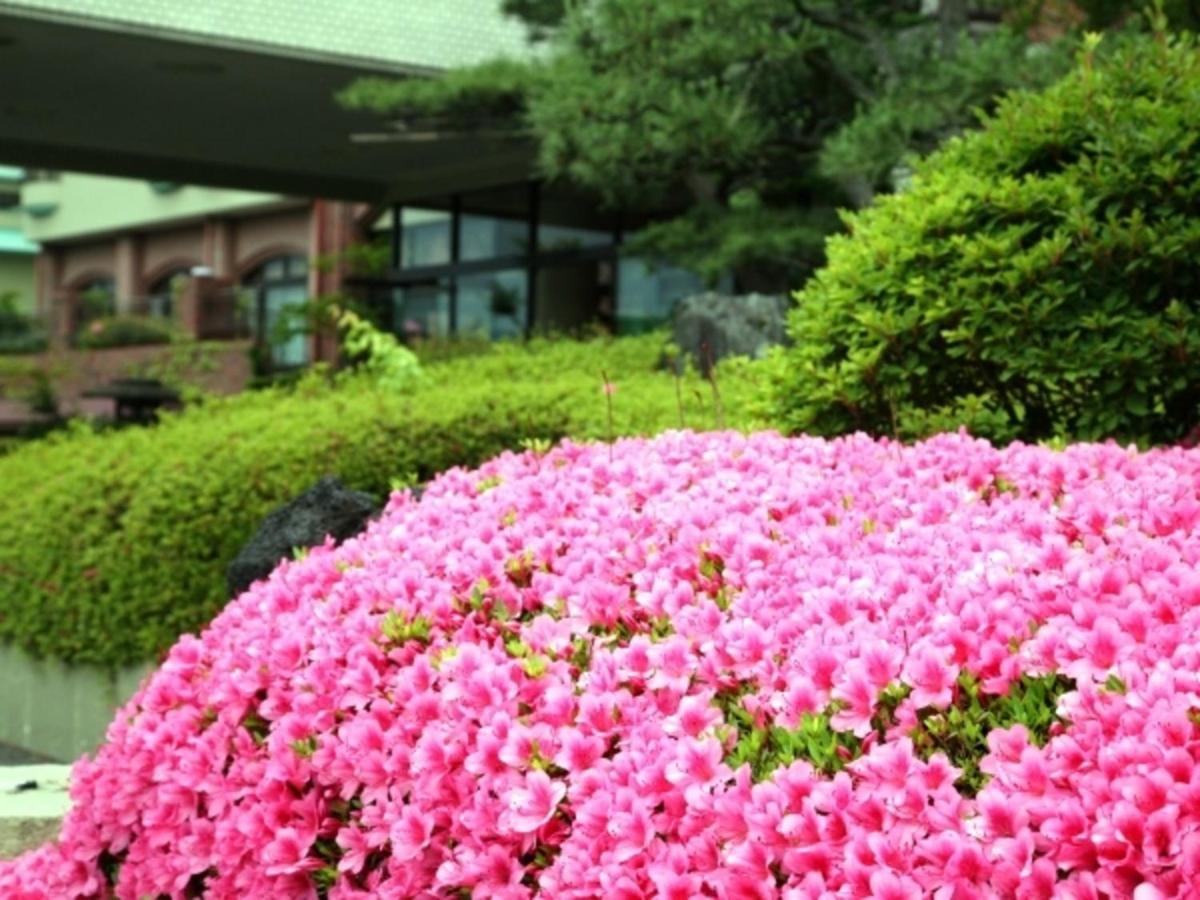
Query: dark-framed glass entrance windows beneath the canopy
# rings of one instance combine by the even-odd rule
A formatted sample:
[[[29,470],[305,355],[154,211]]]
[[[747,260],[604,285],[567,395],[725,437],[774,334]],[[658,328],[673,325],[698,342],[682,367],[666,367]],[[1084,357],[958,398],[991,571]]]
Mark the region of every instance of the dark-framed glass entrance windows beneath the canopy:
[[[401,228],[400,274],[378,304],[406,340],[580,332],[595,324],[637,332],[661,325],[680,298],[703,289],[683,269],[622,257],[622,216],[559,185],[509,184],[424,203],[376,226]]]

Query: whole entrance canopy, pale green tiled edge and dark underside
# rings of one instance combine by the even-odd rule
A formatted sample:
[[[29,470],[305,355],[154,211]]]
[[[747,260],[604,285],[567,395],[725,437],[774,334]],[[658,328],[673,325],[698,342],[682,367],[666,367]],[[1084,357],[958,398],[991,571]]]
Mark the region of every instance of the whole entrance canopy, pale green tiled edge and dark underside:
[[[352,143],[334,95],[528,53],[498,0],[0,0],[0,160],[342,199],[528,173],[511,140]]]

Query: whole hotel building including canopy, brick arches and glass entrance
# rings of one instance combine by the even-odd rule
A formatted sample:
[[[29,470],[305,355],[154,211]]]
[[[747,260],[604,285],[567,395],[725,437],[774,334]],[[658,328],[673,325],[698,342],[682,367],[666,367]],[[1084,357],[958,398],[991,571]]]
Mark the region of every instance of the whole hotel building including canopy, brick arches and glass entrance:
[[[408,338],[661,322],[697,281],[625,253],[638,222],[540,184],[527,139],[404,140],[334,101],[365,76],[536,53],[526,38],[494,0],[0,0],[0,74],[37,112],[0,116],[0,160],[32,173],[20,208],[52,343],[160,318],[292,367],[335,348],[278,340],[286,310],[343,288]],[[82,54],[103,60],[86,79]],[[360,241],[388,248],[383,271],[316,265]]]

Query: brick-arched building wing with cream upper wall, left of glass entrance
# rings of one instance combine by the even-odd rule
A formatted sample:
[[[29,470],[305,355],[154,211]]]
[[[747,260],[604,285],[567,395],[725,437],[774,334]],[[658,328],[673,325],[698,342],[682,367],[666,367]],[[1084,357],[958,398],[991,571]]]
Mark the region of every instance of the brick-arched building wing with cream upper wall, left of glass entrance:
[[[74,173],[35,173],[20,205],[25,234],[41,245],[35,308],[55,347],[70,347],[96,319],[145,317],[202,340],[258,340],[275,367],[328,355],[313,337],[274,340],[277,325],[289,307],[342,287],[336,259],[370,212]]]

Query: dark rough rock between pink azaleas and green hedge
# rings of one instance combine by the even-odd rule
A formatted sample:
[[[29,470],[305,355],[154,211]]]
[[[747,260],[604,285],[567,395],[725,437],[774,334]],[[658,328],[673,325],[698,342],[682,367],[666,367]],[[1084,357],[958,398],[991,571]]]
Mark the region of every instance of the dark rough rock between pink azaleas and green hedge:
[[[350,491],[326,475],[302,494],[274,510],[229,564],[226,580],[236,596],[265,578],[295,547],[313,547],[331,535],[343,541],[361,532],[378,506],[371,494]]]

